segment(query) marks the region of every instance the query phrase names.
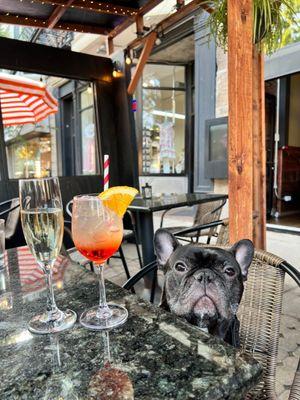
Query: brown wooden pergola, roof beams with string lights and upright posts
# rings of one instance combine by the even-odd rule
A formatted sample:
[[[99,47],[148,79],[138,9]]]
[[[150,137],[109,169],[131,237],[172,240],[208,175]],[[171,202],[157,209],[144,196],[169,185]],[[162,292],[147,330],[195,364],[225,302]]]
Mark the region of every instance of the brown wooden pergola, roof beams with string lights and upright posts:
[[[185,5],[155,29],[147,30],[143,16],[162,0],[2,0],[0,22],[97,33],[107,36],[109,52],[114,38],[133,23],[137,38],[129,48],[143,45],[137,68],[127,87],[131,95],[155,45],[159,29],[167,29],[202,7],[204,0]],[[253,0],[228,0],[228,182],[230,241],[252,239],[265,248],[266,160],[264,121],[264,61],[253,45]]]

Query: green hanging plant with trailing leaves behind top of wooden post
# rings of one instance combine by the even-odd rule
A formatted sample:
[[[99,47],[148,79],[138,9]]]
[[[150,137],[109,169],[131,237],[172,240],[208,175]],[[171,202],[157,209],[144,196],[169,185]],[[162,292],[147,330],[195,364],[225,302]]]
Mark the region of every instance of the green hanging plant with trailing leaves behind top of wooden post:
[[[213,9],[208,19],[211,34],[222,49],[227,50],[227,0],[211,0]],[[253,0],[253,43],[260,51],[271,54],[282,44],[286,20],[296,23],[294,0]]]

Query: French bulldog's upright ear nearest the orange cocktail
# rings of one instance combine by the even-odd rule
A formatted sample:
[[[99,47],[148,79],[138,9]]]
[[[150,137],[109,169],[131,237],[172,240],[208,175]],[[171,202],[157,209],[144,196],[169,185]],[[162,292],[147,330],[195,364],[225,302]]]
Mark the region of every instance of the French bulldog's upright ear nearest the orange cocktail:
[[[170,255],[180,246],[177,239],[167,229],[158,229],[154,235],[154,251],[159,265],[166,265]]]

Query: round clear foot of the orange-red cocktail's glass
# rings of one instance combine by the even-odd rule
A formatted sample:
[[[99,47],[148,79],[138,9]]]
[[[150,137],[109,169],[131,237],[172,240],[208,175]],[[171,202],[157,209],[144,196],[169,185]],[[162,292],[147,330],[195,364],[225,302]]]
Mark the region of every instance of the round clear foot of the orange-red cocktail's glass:
[[[97,331],[116,328],[126,322],[128,311],[125,307],[108,303],[108,309],[109,313],[101,317],[99,315],[99,306],[92,307],[81,314],[79,322],[85,328]]]

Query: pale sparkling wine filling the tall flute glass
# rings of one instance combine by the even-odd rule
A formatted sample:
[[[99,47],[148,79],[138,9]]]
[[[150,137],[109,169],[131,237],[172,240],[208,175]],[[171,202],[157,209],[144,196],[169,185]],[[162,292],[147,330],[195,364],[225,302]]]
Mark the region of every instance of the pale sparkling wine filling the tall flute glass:
[[[49,263],[59,254],[63,237],[63,212],[60,208],[21,211],[23,232],[30,251],[39,263]]]

